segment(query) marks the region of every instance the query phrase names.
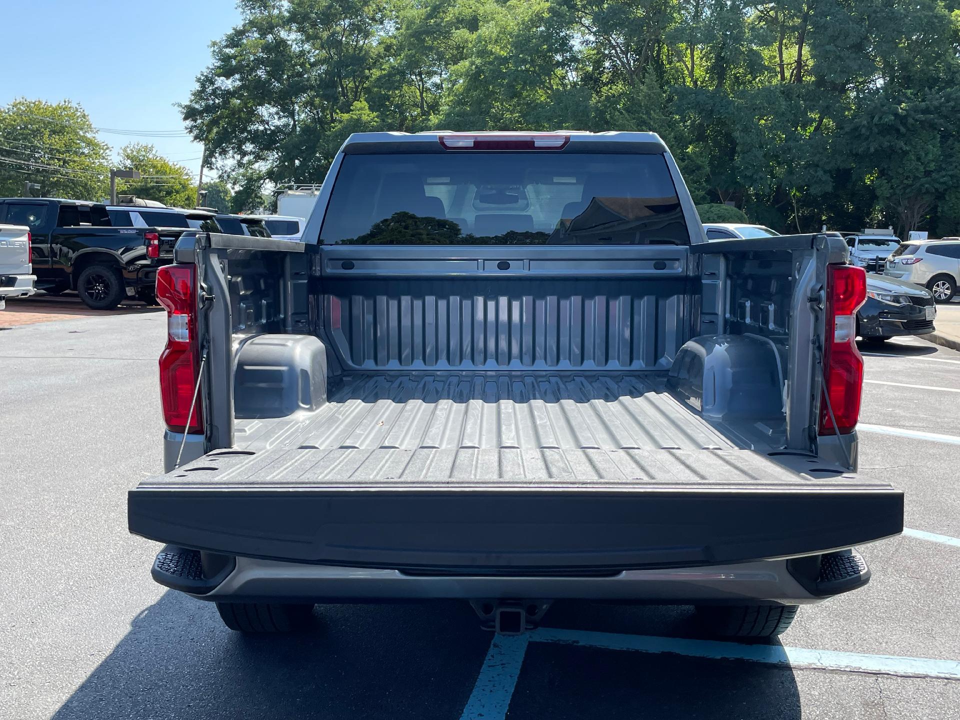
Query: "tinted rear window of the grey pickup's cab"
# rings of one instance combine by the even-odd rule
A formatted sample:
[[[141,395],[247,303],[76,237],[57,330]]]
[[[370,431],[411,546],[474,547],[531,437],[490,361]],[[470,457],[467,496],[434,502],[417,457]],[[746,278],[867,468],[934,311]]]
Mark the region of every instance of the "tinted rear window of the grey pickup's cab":
[[[348,155],[328,245],[686,245],[660,155]]]

